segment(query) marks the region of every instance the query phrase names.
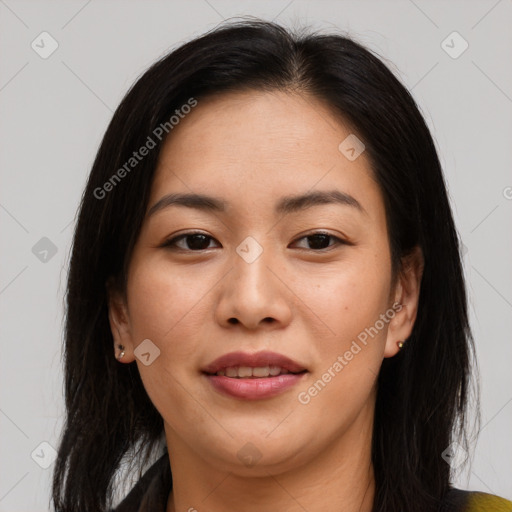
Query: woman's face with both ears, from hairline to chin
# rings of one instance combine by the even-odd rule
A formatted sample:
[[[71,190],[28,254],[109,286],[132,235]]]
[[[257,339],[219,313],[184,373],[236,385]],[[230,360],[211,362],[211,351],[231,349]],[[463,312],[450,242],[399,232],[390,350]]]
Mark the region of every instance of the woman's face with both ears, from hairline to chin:
[[[110,310],[171,458],[277,473],[369,439],[417,288],[392,288],[358,144],[323,103],[284,92],[200,100],[170,133]]]

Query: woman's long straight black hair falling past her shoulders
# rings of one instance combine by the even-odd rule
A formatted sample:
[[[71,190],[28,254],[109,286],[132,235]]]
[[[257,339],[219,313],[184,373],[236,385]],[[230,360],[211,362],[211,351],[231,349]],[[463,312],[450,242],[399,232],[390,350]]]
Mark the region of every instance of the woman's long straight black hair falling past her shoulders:
[[[423,251],[412,334],[378,376],[374,512],[437,510],[451,478],[443,453],[454,441],[468,450],[474,346],[435,144],[411,94],[376,54],[350,37],[292,33],[255,19],[221,25],[153,64],[125,95],[101,142],[81,199],[67,281],[66,419],[53,475],[55,509],[109,510],[122,463],[138,464],[140,475],[162,440],[163,420],[137,366],[113,357],[106,283],[114,278],[126,290],[165,140],[155,129],[171,133],[170,116],[191,98],[239,90],[310,95],[349,122],[384,197],[392,275],[415,246]],[[127,167],[148,137],[156,147]]]

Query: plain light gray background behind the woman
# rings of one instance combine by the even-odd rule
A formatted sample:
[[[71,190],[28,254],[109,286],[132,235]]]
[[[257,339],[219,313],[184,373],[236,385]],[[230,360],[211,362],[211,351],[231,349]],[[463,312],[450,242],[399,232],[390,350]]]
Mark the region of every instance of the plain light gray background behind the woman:
[[[467,248],[481,373],[483,428],[472,466],[455,483],[512,499],[511,0],[0,0],[0,511],[48,509],[64,412],[68,252],[112,112],[168,49],[242,15],[346,31],[412,89]],[[51,48],[43,31],[58,43],[46,59],[31,47]],[[464,43],[454,31],[469,44],[457,58]]]

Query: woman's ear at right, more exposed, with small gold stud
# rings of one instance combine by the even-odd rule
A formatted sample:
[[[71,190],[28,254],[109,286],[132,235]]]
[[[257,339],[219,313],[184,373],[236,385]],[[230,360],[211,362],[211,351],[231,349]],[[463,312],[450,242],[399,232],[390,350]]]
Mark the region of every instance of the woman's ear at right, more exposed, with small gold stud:
[[[405,341],[412,333],[418,313],[421,278],[423,276],[423,252],[416,246],[411,253],[402,258],[402,268],[399,271],[394,292],[393,308],[395,316],[388,325],[384,357],[393,357],[399,351],[397,343]]]

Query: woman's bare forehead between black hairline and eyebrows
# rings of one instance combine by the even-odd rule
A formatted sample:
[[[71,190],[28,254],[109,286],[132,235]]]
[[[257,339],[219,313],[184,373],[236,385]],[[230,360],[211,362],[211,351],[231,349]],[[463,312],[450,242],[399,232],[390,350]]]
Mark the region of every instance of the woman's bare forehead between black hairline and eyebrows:
[[[273,195],[314,188],[375,202],[380,191],[365,153],[350,160],[340,150],[354,135],[311,96],[243,91],[198,100],[162,147],[152,203],[170,191],[215,190],[262,204]]]

